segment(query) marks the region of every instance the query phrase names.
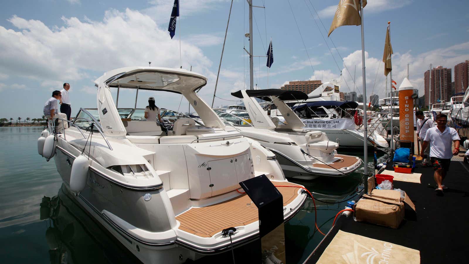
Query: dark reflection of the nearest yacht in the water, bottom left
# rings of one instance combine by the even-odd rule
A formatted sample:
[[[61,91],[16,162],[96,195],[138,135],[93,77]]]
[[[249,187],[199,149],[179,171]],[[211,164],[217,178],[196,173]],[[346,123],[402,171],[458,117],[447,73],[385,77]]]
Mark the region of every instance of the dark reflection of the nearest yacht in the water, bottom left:
[[[42,198],[39,214],[47,223],[51,264],[140,263],[81,208],[63,184],[56,196]]]

